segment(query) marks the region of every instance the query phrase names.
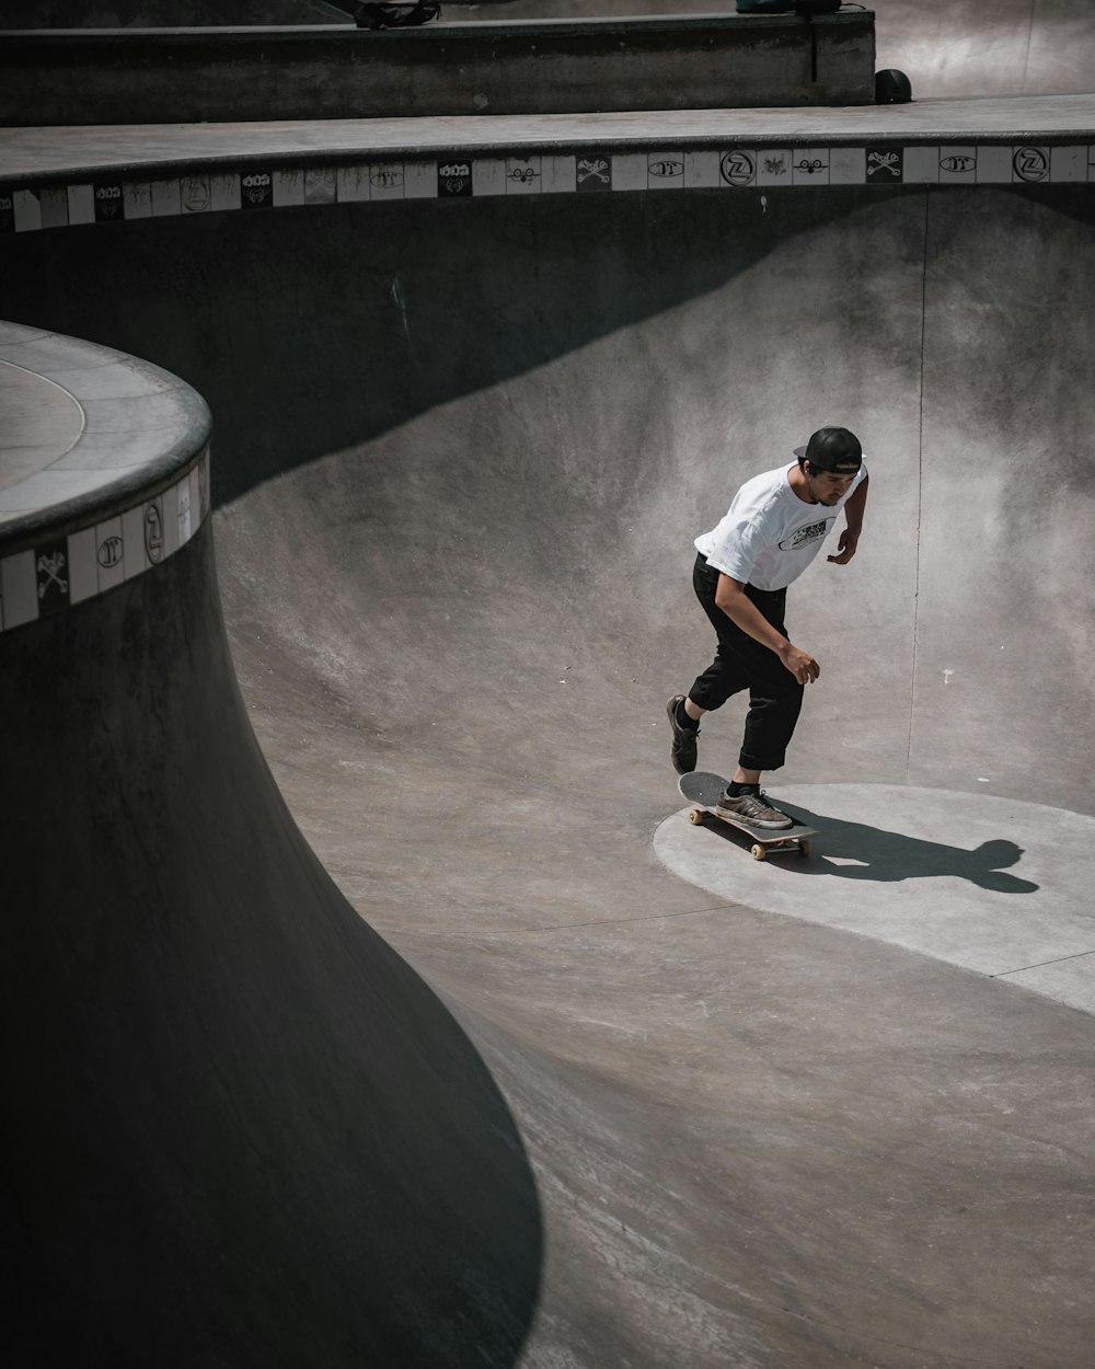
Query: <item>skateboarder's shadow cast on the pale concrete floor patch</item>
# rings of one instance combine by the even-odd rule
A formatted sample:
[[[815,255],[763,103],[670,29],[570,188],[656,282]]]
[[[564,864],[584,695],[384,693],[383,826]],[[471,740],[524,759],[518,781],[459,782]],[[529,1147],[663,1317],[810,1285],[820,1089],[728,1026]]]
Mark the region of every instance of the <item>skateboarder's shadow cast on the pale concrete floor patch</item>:
[[[782,802],[780,808],[788,817],[821,832],[813,847],[813,858],[787,867],[801,875],[835,875],[838,879],[873,879],[881,883],[955,875],[998,894],[1033,894],[1040,887],[1005,872],[1022,858],[1022,847],[1014,842],[998,839],[981,842],[975,850],[964,850],[961,846],[946,846],[920,836],[906,836],[903,832],[887,832],[866,823],[827,817],[795,804]],[[730,835],[724,824],[720,828]],[[855,864],[834,864],[842,858]]]

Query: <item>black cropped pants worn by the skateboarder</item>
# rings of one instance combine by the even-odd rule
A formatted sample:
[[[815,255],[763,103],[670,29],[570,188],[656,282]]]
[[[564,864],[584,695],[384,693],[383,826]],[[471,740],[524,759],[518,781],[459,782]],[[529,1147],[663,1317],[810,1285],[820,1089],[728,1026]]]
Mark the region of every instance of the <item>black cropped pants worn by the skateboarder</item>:
[[[693,587],[719,637],[719,650],[688,690],[688,698],[699,708],[716,709],[731,694],[747,689],[749,713],[738,764],[742,769],[779,769],[787,758],[787,743],[802,709],[803,686],[775,652],[754,642],[716,605],[719,571],[708,565],[704,556],[695,559]],[[745,591],[772,627],[786,637],[787,590],[757,590],[746,585]]]

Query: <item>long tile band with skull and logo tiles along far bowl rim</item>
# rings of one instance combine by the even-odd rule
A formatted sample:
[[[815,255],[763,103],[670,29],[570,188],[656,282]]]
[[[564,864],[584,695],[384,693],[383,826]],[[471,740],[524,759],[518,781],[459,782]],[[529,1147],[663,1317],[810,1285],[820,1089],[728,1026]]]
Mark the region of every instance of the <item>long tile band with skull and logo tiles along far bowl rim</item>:
[[[779,185],[1061,185],[1095,182],[1095,144],[606,149],[528,156],[368,160],[282,170],[248,166],[167,178],[0,185],[0,233],[224,209],[502,194],[750,189]]]

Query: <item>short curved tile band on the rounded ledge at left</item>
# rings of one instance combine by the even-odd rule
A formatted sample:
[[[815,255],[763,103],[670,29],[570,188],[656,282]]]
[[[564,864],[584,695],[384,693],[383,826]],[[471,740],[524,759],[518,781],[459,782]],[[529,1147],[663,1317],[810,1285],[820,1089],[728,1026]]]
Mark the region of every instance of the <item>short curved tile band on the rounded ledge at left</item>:
[[[209,516],[209,449],[157,494],[0,560],[0,631],[63,612],[160,565]]]

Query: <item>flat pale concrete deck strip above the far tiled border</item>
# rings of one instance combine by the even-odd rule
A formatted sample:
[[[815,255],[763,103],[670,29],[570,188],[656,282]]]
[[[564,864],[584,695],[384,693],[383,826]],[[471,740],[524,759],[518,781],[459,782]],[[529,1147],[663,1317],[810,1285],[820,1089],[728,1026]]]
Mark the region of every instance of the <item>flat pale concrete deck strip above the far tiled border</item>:
[[[600,115],[316,119],[0,129],[0,234],[19,231],[16,188],[155,179],[237,166],[328,167],[431,156],[534,156],[587,149],[803,148],[855,144],[1095,144],[1095,94],[927,100],[801,110],[660,110]],[[1095,164],[1095,163],[1094,163]],[[1087,164],[1084,174],[1087,179]],[[16,222],[5,223],[4,216]],[[94,218],[94,214],[92,215]],[[60,222],[70,222],[67,208]],[[53,220],[42,207],[33,227]]]

